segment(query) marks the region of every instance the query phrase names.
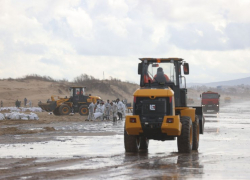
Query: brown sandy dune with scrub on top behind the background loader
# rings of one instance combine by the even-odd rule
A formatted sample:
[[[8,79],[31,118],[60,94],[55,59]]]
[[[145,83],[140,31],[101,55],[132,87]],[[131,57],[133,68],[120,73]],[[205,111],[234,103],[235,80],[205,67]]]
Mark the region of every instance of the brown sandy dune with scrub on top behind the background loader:
[[[128,103],[132,103],[133,93],[139,87],[137,84],[119,79],[99,80],[88,75],[81,75],[74,82],[29,75],[17,79],[0,79],[0,101],[4,102],[4,106],[14,106],[17,99],[23,102],[26,97],[37,106],[38,101],[45,102],[51,95],[69,96],[70,86],[84,86],[86,94],[100,96],[104,101],[120,98],[127,99]]]

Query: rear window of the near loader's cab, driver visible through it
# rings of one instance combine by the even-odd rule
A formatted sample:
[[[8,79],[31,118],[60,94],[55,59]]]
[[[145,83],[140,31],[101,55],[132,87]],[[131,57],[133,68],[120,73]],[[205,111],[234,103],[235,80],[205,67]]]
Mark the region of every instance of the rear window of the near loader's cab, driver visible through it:
[[[147,75],[148,79],[152,82],[166,81],[172,82],[176,85],[176,73],[174,63],[171,62],[161,62],[153,63],[148,65]],[[145,79],[145,78],[144,78]],[[144,80],[144,83],[148,83]]]

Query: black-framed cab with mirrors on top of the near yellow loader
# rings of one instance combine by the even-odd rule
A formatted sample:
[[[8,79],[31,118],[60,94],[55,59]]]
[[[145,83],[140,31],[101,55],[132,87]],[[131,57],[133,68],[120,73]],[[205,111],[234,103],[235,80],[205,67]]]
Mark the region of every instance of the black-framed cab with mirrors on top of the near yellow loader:
[[[187,106],[186,79],[189,74],[188,63],[180,58],[140,58],[138,74],[141,75],[141,88],[164,89],[174,91],[175,106]]]

